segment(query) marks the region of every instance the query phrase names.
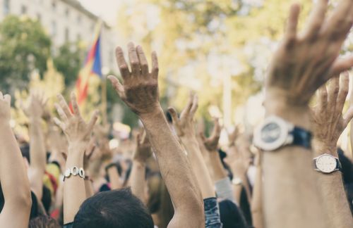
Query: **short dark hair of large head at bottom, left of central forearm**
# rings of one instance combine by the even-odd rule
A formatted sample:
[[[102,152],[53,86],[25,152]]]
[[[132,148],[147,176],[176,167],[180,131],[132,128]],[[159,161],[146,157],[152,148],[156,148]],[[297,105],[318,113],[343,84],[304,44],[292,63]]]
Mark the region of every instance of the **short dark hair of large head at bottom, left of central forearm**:
[[[86,199],[73,221],[73,228],[153,228],[153,220],[131,189],[103,191]]]

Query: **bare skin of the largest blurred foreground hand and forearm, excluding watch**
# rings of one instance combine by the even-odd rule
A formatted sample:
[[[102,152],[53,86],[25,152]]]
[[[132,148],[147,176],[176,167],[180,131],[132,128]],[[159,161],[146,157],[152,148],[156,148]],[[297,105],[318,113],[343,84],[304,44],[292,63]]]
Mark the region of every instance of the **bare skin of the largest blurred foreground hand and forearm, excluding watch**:
[[[311,96],[331,77],[353,65],[352,56],[337,58],[352,27],[353,1],[341,0],[330,18],[325,18],[327,4],[317,1],[302,34],[297,34],[300,7],[292,5],[285,37],[265,82],[266,115],[277,115],[308,130]],[[334,227],[328,219],[334,215],[325,210],[324,199],[318,194],[312,157],[312,151],[301,146],[264,152],[265,227]]]

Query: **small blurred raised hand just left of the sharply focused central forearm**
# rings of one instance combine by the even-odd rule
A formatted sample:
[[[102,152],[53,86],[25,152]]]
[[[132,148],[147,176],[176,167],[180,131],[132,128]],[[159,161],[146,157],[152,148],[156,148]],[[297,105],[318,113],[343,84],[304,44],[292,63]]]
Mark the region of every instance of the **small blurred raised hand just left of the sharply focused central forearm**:
[[[145,130],[139,132],[136,137],[136,151],[133,153],[133,160],[145,163],[152,156],[152,148]]]

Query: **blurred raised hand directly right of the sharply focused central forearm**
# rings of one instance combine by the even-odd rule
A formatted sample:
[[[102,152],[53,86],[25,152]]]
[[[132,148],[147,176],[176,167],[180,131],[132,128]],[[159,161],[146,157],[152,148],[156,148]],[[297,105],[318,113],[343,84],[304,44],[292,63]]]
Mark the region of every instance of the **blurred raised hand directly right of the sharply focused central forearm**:
[[[174,128],[181,139],[183,137],[196,137],[193,116],[195,115],[197,109],[198,96],[193,95],[192,93],[190,93],[188,104],[181,112],[180,118],[178,118],[177,111],[174,108],[168,108],[168,111],[172,116]]]

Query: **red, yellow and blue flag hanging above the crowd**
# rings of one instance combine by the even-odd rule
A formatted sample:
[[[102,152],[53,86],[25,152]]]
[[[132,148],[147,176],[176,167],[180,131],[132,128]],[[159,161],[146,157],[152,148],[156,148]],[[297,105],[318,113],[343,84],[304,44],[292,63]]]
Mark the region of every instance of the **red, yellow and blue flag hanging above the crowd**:
[[[78,73],[78,80],[76,82],[76,95],[78,105],[82,104],[88,95],[88,82],[90,77],[97,76],[102,78],[102,63],[100,58],[100,31],[102,23],[98,23],[95,39],[93,39],[92,46],[88,51],[83,68]]]

